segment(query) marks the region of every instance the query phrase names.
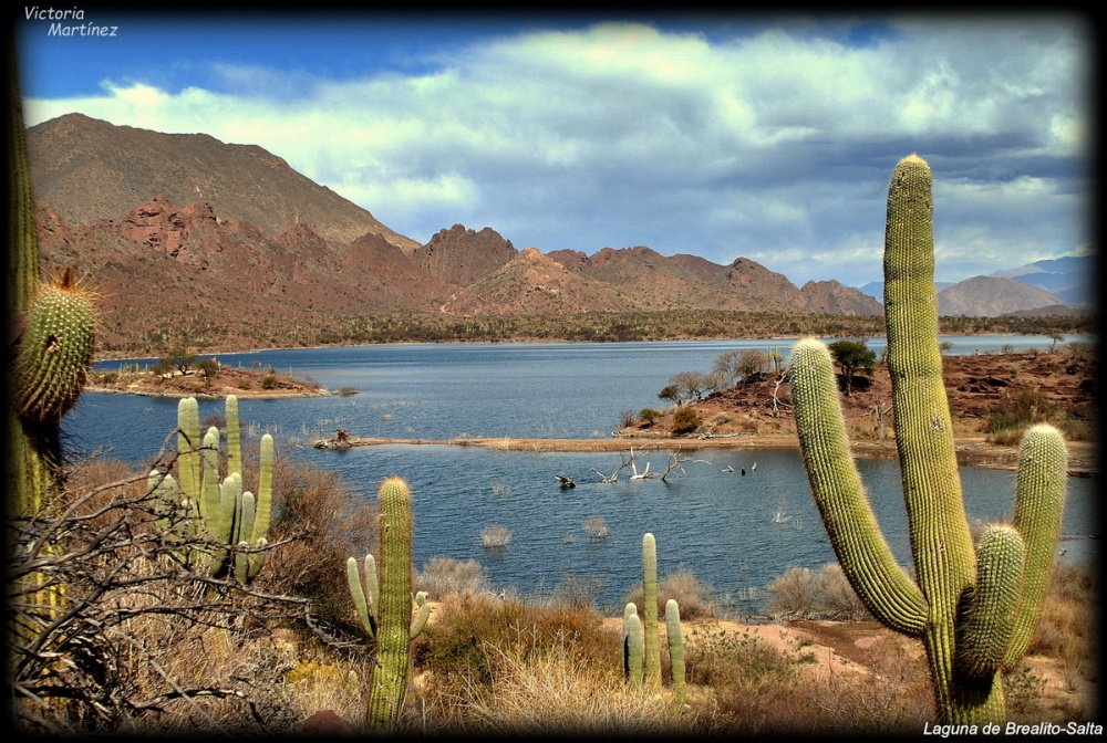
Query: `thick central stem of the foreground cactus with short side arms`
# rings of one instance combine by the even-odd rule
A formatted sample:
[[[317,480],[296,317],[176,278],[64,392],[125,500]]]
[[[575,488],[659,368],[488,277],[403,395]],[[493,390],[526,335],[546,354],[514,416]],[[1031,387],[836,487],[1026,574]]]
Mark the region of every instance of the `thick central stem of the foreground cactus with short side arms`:
[[[369,695],[369,728],[394,730],[407,688],[412,627],[411,490],[389,478],[377,491],[381,522],[377,666]]]

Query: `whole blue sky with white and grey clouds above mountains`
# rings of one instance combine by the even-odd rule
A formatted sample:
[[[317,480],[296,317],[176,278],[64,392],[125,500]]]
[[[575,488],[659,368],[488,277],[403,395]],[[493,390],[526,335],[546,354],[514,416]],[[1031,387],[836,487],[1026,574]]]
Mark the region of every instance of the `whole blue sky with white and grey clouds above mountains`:
[[[888,184],[918,154],[938,281],[1093,252],[1082,14],[319,8],[21,7],[27,124],[260,145],[420,243],[490,227],[796,285],[881,280]]]

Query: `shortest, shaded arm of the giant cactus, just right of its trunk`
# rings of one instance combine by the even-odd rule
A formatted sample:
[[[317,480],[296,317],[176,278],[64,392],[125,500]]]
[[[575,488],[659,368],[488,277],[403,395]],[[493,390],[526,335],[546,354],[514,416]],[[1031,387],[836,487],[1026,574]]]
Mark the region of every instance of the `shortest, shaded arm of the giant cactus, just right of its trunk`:
[[[976,551],[976,587],[958,622],[956,664],[968,678],[986,680],[1001,670],[1015,628],[1026,548],[1011,526],[992,525]]]

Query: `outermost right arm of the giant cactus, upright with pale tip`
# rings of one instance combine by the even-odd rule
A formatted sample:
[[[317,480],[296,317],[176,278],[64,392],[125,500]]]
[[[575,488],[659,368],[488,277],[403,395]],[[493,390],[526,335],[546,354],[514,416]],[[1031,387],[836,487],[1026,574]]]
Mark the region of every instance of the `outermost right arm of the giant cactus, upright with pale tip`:
[[[1067,486],[1068,451],[1061,432],[1046,425],[1030,428],[1020,446],[1013,523],[1026,544],[1026,578],[1004,659],[1007,669],[1026,653],[1042,615]]]

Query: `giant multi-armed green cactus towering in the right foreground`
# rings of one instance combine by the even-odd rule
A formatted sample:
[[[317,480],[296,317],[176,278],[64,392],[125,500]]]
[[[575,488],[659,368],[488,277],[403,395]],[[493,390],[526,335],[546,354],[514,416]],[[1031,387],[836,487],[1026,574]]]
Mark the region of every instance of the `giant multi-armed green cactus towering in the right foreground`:
[[[1015,515],[973,545],[942,380],[933,280],[930,167],[896,167],[884,237],[887,363],[915,579],[889,550],[853,464],[834,364],[815,339],[790,363],[796,426],[811,491],[850,583],[888,627],[925,648],[942,723],[1000,722],[1001,676],[1026,652],[1041,616],[1064,509],[1061,433],[1026,431]]]

